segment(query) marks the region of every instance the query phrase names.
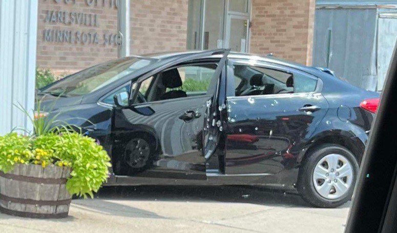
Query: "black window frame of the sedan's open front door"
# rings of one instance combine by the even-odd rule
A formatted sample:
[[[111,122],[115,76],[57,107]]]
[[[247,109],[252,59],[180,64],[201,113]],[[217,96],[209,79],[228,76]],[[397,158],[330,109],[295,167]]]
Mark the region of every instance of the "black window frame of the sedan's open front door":
[[[157,79],[157,74],[159,74],[159,73],[161,73],[163,71],[167,71],[167,70],[170,70],[170,69],[176,69],[176,68],[184,67],[184,66],[200,66],[200,65],[216,65],[218,67],[219,66],[219,60],[215,59],[215,60],[208,60],[208,61],[191,61],[191,62],[181,63],[181,64],[177,64],[175,66],[167,67],[167,68],[165,68],[165,69],[163,69],[163,70],[159,71],[158,73],[153,74],[151,76],[143,75],[143,76],[139,77],[136,82],[133,82],[131,84],[131,90],[133,90],[133,86],[136,83],[136,87],[135,88],[136,88],[136,90],[139,91],[139,88],[140,88],[140,85],[141,85],[142,82],[144,82],[147,79],[150,79],[150,77],[152,77],[152,76],[155,76],[155,79]],[[150,84],[150,88],[152,88],[152,85],[153,85],[153,81]],[[148,89],[148,90],[150,90],[150,89]],[[176,99],[169,99],[169,100],[157,100],[157,101],[149,101],[149,102],[144,102],[144,103],[134,103],[136,98],[137,98],[137,92],[138,91],[131,91],[131,94],[133,94],[133,96],[131,96],[132,99],[130,99],[130,106],[139,106],[139,105],[147,105],[147,104],[152,104],[152,103],[160,103],[160,102],[163,103],[163,102],[168,102],[168,101],[175,101],[175,100],[182,100],[182,99],[186,100],[186,99],[201,98],[201,97],[204,97],[204,96],[210,96],[207,93],[205,93],[204,95],[194,95],[194,96],[187,96],[187,97],[183,97],[183,98],[176,98]],[[136,94],[135,94],[135,92],[136,92]]]

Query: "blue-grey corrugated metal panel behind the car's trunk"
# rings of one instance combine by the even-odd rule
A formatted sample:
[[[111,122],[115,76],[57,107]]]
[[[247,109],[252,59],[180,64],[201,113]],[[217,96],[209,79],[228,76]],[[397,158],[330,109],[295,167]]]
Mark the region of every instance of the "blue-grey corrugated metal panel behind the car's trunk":
[[[376,8],[316,10],[313,64],[368,90],[377,86]]]

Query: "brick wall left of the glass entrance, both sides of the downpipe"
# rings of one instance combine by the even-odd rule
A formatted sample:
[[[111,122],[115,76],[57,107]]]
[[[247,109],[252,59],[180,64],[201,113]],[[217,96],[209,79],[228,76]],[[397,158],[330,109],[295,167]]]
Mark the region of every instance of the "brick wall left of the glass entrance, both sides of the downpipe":
[[[112,1],[113,5],[111,5]],[[104,34],[109,38],[109,35],[117,32],[117,10],[114,0],[93,0],[94,3],[89,6],[87,3],[91,2],[92,0],[39,0],[38,67],[50,68],[57,74],[71,73],[117,57],[117,46],[103,44]],[[48,11],[97,14],[98,25],[97,27],[77,26],[76,24],[46,22]],[[166,3],[162,0],[132,0],[130,25],[131,53],[184,50],[187,33],[187,0],[169,0]],[[52,30],[50,33],[55,32],[52,34],[53,37],[48,37],[50,41],[46,41],[46,30]],[[81,38],[79,42],[74,40],[72,43],[57,40],[57,31],[63,33],[64,30],[71,31],[74,38],[77,31],[96,32],[98,43],[84,44]]]

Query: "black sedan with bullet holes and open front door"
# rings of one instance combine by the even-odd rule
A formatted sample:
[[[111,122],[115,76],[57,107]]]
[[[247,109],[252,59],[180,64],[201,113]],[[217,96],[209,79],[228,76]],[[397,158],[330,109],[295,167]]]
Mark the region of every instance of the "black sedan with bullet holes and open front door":
[[[124,57],[37,93],[107,149],[107,185],[261,185],[320,207],[351,198],[380,97],[228,50]]]

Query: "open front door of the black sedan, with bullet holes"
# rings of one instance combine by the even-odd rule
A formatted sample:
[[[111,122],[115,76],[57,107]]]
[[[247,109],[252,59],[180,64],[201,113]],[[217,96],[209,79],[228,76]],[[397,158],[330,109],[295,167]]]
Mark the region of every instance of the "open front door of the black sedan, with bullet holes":
[[[116,96],[112,163],[117,182],[145,178],[143,183],[148,183],[148,177],[151,181],[206,179],[205,160],[219,144],[226,110],[222,71],[228,52],[220,49],[171,58],[132,80],[126,106],[119,101],[122,96]],[[215,56],[219,54],[220,59]],[[197,70],[205,71],[200,80],[209,82],[206,91],[185,86],[191,75],[200,73]]]

